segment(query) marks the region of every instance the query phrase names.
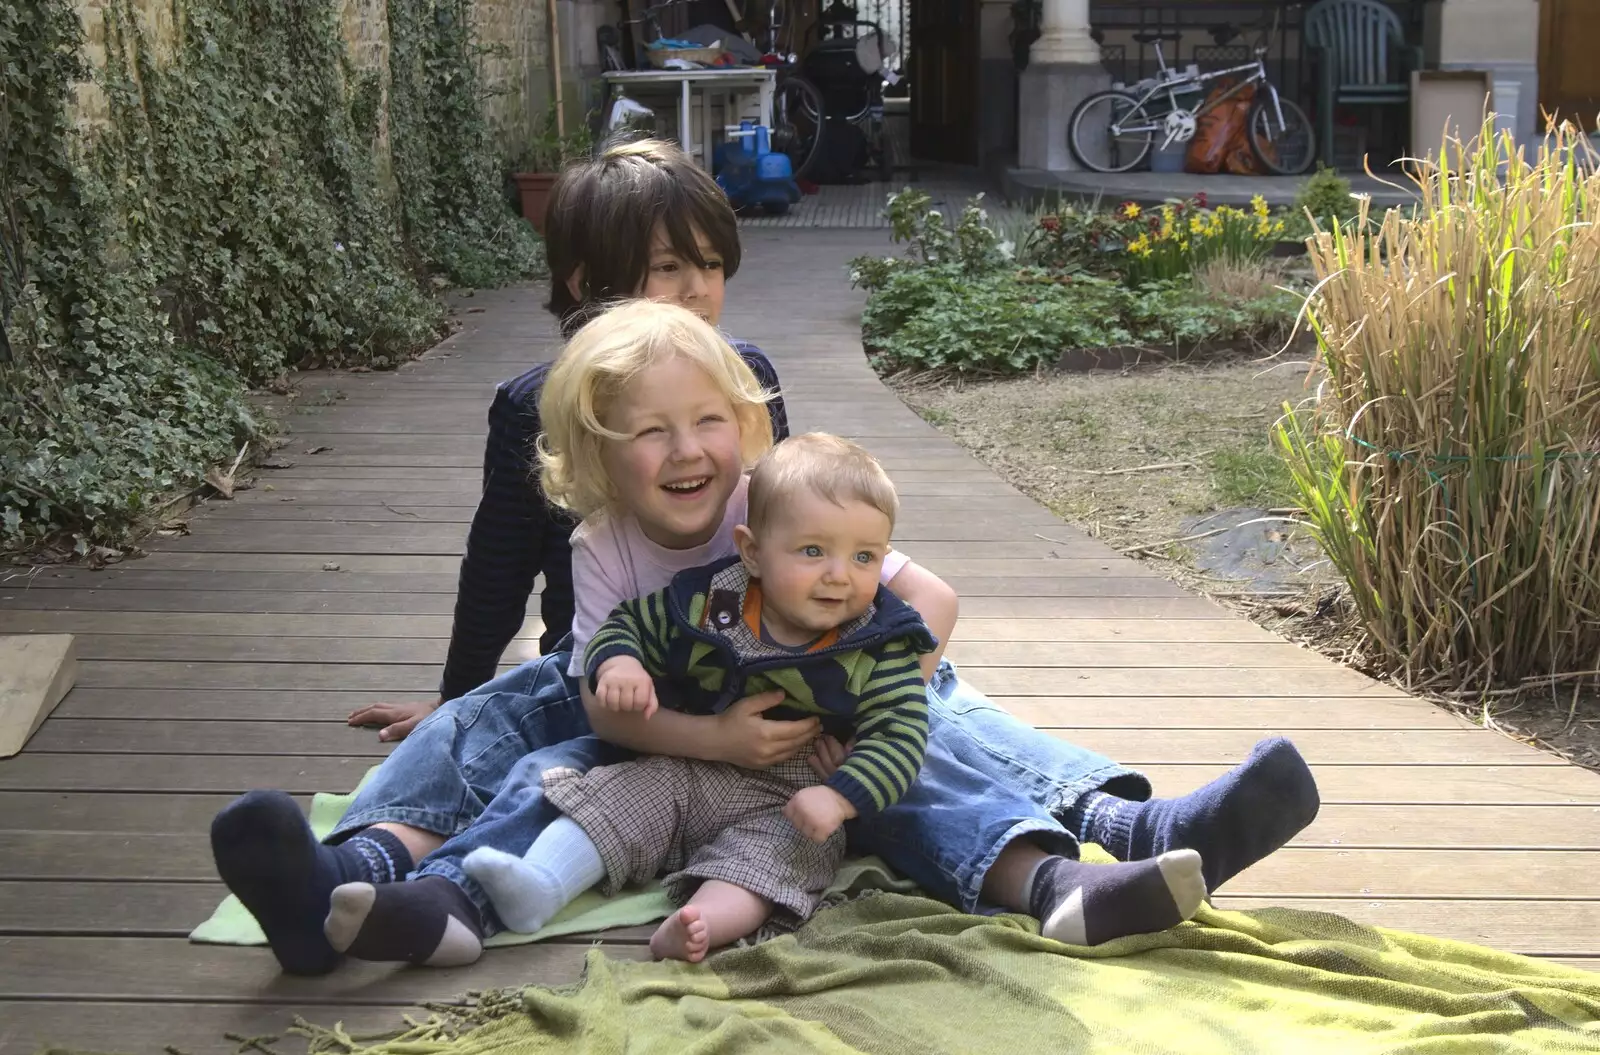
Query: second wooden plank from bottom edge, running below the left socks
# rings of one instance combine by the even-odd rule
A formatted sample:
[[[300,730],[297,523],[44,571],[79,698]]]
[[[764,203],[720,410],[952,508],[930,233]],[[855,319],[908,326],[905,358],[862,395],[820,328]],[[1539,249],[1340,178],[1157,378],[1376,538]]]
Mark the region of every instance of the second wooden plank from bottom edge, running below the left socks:
[[[173,938],[38,938],[5,943],[5,999],[192,999],[410,1004],[491,986],[566,985],[582,970],[587,945],[539,943],[494,949],[472,967],[416,970],[349,961],[322,978],[278,970],[262,948],[190,945]],[[606,945],[613,959],[650,959],[637,945]]]

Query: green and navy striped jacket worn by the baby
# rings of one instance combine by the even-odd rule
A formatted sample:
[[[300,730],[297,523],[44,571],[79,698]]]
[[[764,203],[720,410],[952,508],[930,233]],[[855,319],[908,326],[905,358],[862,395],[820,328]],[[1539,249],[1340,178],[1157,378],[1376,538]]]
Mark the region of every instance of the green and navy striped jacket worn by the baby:
[[[936,642],[922,618],[878,586],[872,605],[808,650],[768,644],[760,632],[760,583],[738,557],[674,576],[654,594],[611,613],[584,653],[595,687],[600,664],[634,656],[664,708],[718,714],[746,696],[782,688],[773,719],[818,716],[856,746],[827,786],[862,816],[910,788],[928,748],[928,696],[918,656]]]

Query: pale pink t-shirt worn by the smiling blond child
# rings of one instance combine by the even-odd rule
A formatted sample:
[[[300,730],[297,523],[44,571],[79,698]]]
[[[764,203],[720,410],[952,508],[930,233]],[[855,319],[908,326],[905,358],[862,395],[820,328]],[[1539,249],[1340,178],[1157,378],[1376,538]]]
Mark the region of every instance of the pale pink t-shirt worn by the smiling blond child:
[[[573,530],[573,661],[566,672],[584,674],[584,652],[589,639],[624,600],[634,600],[666,589],[672,576],[698,568],[738,551],[733,528],[744,523],[750,507],[750,479],[741,477],[728,498],[728,511],[709,543],[693,549],[667,549],[645,538],[635,517],[589,517]],[[888,583],[910,564],[910,557],[891,549],[883,557],[880,583]]]

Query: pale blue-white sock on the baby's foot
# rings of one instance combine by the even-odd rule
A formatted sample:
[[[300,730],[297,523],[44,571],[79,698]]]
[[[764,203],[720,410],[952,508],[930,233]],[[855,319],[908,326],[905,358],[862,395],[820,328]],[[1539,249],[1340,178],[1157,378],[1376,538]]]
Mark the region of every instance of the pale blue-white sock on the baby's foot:
[[[523,856],[478,847],[461,863],[490,895],[490,903],[518,933],[534,933],[579,893],[605,879],[605,861],[589,834],[570,816],[539,832]]]

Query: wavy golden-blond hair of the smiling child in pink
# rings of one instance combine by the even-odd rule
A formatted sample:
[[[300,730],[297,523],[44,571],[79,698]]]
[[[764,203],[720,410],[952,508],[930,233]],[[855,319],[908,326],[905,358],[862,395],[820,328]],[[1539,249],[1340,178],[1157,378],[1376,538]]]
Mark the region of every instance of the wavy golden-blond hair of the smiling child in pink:
[[[627,437],[605,418],[634,378],[672,359],[704,370],[733,405],[746,467],[773,445],[771,395],[709,322],[674,304],[624,301],[573,336],[539,394],[539,485],[550,503],[579,517],[618,511],[602,450]]]

